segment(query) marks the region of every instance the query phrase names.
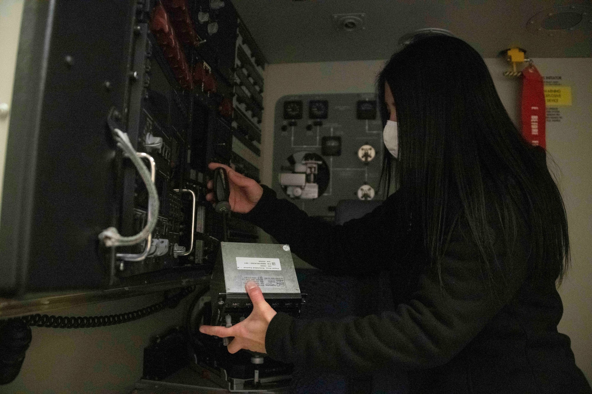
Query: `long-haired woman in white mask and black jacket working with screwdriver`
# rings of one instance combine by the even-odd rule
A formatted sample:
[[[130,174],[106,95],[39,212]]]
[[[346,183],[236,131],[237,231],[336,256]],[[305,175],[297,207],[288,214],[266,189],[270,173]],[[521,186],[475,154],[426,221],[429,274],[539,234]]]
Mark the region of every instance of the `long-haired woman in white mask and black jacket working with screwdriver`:
[[[395,53],[377,85],[391,152],[382,180],[397,191],[370,214],[330,225],[226,169],[234,212],[321,270],[388,270],[396,310],[304,321],[276,313],[250,282],[247,319],[200,331],[234,337],[231,353],[300,368],[404,370],[411,393],[592,393],[557,331],[564,204],[481,56],[458,38],[425,37]]]

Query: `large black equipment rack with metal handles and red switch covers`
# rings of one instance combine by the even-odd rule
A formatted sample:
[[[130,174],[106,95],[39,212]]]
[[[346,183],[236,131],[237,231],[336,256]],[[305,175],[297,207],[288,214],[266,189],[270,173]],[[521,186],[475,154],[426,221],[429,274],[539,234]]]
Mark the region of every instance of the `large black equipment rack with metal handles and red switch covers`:
[[[207,274],[253,225],[205,201],[207,164],[259,180],[265,57],[229,0],[25,7],[0,225],[0,293]],[[115,129],[127,135],[157,191]],[[118,146],[119,144],[119,146]],[[134,155],[135,156],[135,155]]]

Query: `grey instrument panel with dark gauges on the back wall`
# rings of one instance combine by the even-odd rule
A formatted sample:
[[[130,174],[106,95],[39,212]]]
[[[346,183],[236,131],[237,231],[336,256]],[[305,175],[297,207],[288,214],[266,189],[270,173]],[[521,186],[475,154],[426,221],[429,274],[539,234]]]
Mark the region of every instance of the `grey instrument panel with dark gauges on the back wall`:
[[[383,150],[373,93],[284,96],[275,108],[272,187],[331,219],[340,200],[381,197]]]

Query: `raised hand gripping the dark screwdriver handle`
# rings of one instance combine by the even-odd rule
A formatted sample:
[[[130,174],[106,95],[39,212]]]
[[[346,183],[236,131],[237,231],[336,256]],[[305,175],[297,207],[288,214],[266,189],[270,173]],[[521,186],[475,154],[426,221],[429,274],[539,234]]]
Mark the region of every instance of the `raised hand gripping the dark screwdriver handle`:
[[[220,163],[210,163],[208,168],[210,170],[217,169],[218,167],[224,167],[228,174],[228,183],[230,186],[230,209],[233,212],[239,214],[246,214],[249,212],[263,195],[263,188],[254,179],[250,179],[242,174],[237,173],[229,166],[225,166]],[[214,188],[213,181],[208,182],[208,189]],[[214,201],[214,193],[210,192],[205,196],[207,201]]]

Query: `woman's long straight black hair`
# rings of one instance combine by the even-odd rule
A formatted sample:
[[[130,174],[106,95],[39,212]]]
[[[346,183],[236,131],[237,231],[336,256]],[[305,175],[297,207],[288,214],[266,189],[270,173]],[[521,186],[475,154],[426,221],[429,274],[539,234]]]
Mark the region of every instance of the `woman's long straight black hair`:
[[[385,83],[397,111],[399,151],[394,160],[383,150],[382,185],[388,194],[392,182],[407,196],[403,201],[420,218],[438,273],[453,222],[462,215],[488,279],[501,257],[494,253],[491,229],[501,228],[511,244],[522,220],[530,273],[561,282],[570,250],[561,194],[545,152],[530,146],[510,120],[480,54],[444,35],[395,53],[377,78],[383,124]]]

